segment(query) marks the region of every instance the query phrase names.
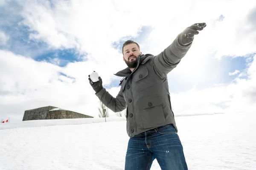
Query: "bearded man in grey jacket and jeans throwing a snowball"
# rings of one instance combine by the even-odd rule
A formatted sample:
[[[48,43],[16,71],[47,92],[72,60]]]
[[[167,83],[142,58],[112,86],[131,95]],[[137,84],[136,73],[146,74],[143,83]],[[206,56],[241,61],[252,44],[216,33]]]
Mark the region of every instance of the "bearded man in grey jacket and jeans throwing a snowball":
[[[92,82],[96,96],[114,112],[126,110],[130,136],[125,170],[149,170],[157,159],[162,170],[187,170],[183,147],[177,135],[170,101],[167,74],[177,66],[192,45],[194,35],[205,23],[197,23],[178,34],[157,56],[143,55],[137,42],[123,44],[123,60],[128,68],[116,73],[124,77],[114,98],[102,87],[102,79]]]

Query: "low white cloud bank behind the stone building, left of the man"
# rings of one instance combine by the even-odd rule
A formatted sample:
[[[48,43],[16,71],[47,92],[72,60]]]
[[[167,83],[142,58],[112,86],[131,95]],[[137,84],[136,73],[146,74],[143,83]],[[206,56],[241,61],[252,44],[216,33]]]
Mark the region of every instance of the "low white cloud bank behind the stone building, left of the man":
[[[88,64],[70,63],[61,68],[0,50],[0,115],[21,120],[25,110],[52,105],[97,117],[99,99],[82,71]],[[105,75],[101,77],[107,85],[110,79]],[[110,92],[118,93],[116,88]]]

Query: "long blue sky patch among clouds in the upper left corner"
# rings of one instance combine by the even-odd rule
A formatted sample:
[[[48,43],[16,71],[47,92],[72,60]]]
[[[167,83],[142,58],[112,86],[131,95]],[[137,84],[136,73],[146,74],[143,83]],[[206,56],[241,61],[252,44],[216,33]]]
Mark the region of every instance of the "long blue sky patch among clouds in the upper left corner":
[[[53,7],[54,4],[50,3]],[[84,61],[86,54],[78,54],[76,49],[53,49],[49,48],[46,42],[31,40],[29,35],[36,34],[36,32],[22,24],[21,11],[22,6],[19,6],[15,1],[7,1],[4,6],[0,6],[0,30],[9,37],[6,45],[0,45],[0,49],[31,57],[36,61],[53,63],[53,59],[58,58],[59,66],[65,66],[69,62]]]

